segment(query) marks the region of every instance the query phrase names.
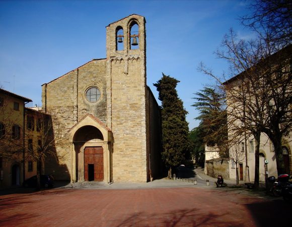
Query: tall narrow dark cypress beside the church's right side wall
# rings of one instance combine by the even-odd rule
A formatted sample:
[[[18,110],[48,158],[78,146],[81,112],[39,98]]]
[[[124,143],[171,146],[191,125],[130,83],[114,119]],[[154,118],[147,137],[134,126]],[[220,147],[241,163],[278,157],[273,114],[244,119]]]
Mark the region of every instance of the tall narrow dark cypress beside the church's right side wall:
[[[172,168],[180,164],[189,150],[187,111],[182,100],[178,97],[176,86],[178,80],[162,74],[162,78],[154,84],[162,102],[162,158],[171,178]]]

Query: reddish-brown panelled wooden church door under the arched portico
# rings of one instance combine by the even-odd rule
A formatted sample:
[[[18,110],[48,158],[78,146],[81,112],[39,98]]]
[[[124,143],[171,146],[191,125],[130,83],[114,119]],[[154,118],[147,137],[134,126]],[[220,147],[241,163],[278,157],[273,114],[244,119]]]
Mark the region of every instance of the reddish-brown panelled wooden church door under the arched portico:
[[[103,181],[103,148],[86,147],[84,149],[84,180]]]

